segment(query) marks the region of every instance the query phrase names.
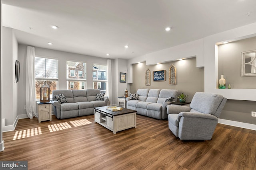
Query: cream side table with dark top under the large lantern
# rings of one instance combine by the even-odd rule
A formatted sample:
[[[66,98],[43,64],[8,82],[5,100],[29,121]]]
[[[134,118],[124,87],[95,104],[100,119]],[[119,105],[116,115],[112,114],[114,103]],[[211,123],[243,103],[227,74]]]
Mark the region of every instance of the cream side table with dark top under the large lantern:
[[[52,101],[50,102],[37,102],[38,109],[38,123],[41,121],[52,121]]]

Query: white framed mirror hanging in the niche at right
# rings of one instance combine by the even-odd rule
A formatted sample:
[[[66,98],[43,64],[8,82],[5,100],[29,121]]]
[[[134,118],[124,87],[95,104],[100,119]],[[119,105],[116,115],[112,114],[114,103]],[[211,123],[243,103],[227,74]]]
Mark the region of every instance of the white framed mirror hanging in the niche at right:
[[[241,53],[241,76],[256,76],[256,50]]]

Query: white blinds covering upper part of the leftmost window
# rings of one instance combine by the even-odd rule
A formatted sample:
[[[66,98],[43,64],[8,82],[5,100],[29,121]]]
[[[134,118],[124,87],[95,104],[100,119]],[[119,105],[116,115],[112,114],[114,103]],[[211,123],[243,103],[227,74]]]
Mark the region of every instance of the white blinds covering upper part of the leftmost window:
[[[58,60],[35,57],[36,79],[58,80]]]

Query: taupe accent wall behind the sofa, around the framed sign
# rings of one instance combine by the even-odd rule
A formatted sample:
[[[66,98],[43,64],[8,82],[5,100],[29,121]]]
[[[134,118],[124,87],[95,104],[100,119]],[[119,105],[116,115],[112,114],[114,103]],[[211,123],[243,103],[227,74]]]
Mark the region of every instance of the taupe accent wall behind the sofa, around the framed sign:
[[[176,85],[169,85],[169,68],[176,67]],[[150,86],[145,85],[145,72],[150,70]],[[153,71],[165,70],[165,81],[153,81]],[[133,64],[133,83],[128,93],[136,93],[139,88],[176,89],[179,93],[189,95],[186,101],[191,101],[196,92],[204,92],[204,68],[196,67],[196,57],[182,61],[146,65],[146,62]]]

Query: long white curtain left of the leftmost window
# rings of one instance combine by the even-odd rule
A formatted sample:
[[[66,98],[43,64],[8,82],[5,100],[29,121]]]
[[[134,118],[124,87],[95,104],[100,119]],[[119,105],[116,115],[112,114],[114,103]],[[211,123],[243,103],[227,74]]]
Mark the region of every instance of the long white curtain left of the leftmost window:
[[[34,72],[35,48],[28,46],[26,59],[26,111],[30,119],[36,116],[36,87]]]

